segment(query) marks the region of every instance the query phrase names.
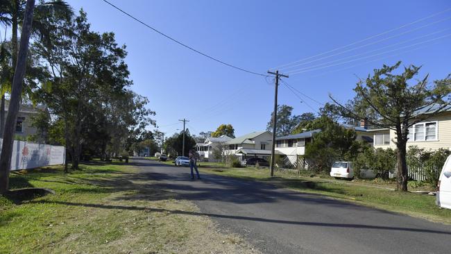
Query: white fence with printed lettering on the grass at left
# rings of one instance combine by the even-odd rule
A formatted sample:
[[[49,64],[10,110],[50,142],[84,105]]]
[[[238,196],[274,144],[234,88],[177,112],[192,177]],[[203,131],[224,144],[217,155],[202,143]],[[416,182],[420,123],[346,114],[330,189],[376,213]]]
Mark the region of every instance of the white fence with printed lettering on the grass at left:
[[[3,139],[0,139],[0,152]],[[35,144],[14,141],[12,146],[11,170],[34,169],[50,165],[64,164],[65,147],[49,144]]]

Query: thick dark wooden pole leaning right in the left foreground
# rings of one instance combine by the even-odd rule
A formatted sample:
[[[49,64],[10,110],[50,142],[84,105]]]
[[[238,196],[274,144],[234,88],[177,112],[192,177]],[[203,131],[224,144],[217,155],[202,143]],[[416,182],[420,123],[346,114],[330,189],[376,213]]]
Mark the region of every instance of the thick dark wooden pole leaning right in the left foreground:
[[[20,99],[22,95],[22,83],[25,76],[26,55],[28,53],[28,42],[31,35],[31,24],[33,22],[33,10],[35,8],[35,0],[26,2],[24,15],[24,24],[22,26],[22,36],[20,40],[20,48],[17,56],[17,65],[14,71],[14,79],[12,81],[12,91],[10,105],[8,107],[8,116],[3,133],[3,144],[0,156],[0,194],[8,191],[9,173],[11,167],[12,144],[14,142],[14,130],[19,113]]]

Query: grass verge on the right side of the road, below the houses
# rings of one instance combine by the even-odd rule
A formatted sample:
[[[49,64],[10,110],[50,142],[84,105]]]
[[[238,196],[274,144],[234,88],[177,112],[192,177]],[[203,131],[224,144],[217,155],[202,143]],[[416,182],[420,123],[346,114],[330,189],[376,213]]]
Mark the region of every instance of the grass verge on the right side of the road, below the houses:
[[[359,203],[361,205],[380,208],[392,212],[409,214],[430,221],[451,224],[451,210],[440,209],[435,205],[435,196],[395,192],[384,187],[392,183],[351,183],[347,180],[329,180],[318,176],[295,176],[288,173],[275,173],[275,178],[269,177],[269,171],[255,168],[201,168],[201,171],[220,176],[230,176],[246,180],[259,180],[280,187],[297,191],[323,194],[332,198]],[[308,172],[308,171],[307,171]],[[370,181],[368,181],[369,183]]]

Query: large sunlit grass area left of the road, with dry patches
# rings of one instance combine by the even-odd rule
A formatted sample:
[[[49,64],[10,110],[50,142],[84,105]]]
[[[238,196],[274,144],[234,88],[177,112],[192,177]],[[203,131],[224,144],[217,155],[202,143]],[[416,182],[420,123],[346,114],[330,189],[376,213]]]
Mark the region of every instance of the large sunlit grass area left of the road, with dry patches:
[[[153,188],[133,166],[114,162],[13,172],[11,189],[46,187],[31,200],[0,196],[0,253],[254,253],[217,232],[196,205]]]

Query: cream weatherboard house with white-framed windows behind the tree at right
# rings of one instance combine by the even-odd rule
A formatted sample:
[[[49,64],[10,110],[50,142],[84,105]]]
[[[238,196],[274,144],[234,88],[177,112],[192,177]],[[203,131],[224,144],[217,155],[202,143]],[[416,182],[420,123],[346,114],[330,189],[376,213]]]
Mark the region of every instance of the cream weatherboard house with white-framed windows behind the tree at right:
[[[434,108],[429,112],[434,112]],[[428,112],[418,112],[427,114]],[[368,130],[373,135],[373,145],[375,148],[395,149],[396,133],[389,128],[379,128]],[[409,146],[418,146],[420,149],[451,150],[451,105],[443,109],[439,114],[425,121],[421,121],[409,128]]]

